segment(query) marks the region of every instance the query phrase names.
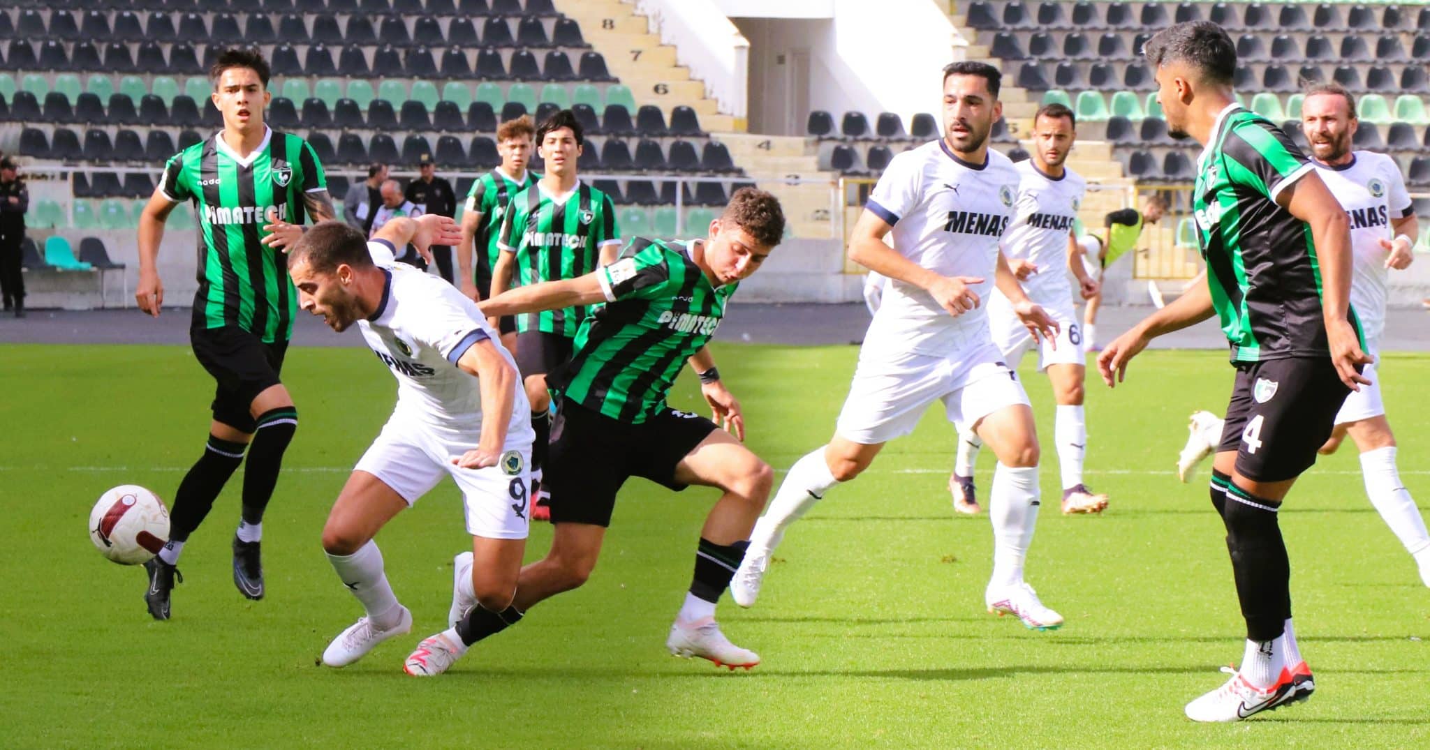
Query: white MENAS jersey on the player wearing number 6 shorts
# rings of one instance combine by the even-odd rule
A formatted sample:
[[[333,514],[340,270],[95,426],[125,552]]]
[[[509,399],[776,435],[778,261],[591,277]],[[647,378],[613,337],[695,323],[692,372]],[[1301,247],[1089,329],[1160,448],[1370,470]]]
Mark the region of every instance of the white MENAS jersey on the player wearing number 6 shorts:
[[[1014,169],[1020,177],[1018,200],[1008,233],[1002,236],[1002,254],[1038,267],[1022,281],[1022,289],[1034,301],[1051,304],[1070,300],[1068,237],[1083,206],[1087,181],[1070,169],[1064,169],[1061,177],[1048,177],[1031,159],[1018,161]]]

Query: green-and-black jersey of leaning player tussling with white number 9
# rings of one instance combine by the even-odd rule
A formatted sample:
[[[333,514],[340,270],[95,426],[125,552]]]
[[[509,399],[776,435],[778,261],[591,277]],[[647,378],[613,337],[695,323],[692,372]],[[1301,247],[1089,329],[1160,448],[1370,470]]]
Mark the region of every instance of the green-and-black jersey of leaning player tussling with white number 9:
[[[665,407],[738,284],[716,289],[686,246],[642,237],[596,277],[608,301],[581,324],[575,354],[546,381],[592,411],[639,424]]]

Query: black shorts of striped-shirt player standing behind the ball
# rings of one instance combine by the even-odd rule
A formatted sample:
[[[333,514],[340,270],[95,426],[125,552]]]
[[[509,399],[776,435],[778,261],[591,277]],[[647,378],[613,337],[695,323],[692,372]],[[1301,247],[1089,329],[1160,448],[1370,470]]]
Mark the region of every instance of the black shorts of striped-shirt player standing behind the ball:
[[[189,329],[189,341],[199,364],[217,381],[213,419],[243,433],[257,429],[250,410],[253,399],[282,383],[287,341],[265,344],[263,339],[237,326]]]

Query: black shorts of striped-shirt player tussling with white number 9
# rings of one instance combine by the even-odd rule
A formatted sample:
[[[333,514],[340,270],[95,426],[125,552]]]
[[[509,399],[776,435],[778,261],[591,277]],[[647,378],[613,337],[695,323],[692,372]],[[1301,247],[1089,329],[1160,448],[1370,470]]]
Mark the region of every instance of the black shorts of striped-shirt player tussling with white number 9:
[[[676,464],[718,429],[705,417],[674,409],[629,424],[562,399],[542,470],[542,489],[551,491],[551,521],[611,526],[616,491],[629,477],[684,490],[675,479]]]

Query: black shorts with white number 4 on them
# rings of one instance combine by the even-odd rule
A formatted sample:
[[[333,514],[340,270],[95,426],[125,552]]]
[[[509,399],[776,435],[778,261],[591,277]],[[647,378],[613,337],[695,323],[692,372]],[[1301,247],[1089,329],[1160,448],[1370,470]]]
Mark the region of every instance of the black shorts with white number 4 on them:
[[[1237,451],[1237,473],[1247,479],[1296,479],[1316,463],[1348,394],[1330,357],[1237,364],[1217,450]]]

